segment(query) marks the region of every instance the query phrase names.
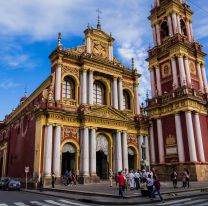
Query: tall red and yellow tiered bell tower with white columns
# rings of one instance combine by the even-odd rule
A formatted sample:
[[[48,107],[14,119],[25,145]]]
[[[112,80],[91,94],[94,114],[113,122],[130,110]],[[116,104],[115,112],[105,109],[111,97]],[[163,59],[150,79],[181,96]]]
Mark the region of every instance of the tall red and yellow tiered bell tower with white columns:
[[[195,180],[208,178],[206,54],[194,40],[192,15],[185,0],[154,0],[149,16],[151,162],[162,179],[173,168],[188,169]]]

